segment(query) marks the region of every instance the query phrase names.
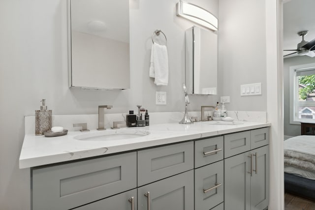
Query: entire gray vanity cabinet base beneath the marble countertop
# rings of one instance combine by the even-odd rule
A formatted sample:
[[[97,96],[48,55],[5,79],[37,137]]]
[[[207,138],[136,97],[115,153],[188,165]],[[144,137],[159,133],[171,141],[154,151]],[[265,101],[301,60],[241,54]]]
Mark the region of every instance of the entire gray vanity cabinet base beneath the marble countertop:
[[[263,210],[269,128],[32,168],[32,210]]]

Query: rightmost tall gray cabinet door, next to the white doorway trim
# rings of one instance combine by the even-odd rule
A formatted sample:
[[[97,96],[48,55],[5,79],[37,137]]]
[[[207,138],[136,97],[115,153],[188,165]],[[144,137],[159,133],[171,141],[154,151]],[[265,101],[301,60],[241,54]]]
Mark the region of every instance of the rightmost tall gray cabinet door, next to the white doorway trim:
[[[262,210],[269,203],[269,146],[251,151],[254,172],[251,177],[251,210]]]

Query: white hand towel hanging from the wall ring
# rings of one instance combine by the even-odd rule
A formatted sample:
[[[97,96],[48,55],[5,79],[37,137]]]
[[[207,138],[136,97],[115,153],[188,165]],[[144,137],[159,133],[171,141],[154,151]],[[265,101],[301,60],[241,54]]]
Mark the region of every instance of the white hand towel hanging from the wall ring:
[[[151,49],[150,77],[157,86],[168,84],[168,55],[165,45],[154,43]]]

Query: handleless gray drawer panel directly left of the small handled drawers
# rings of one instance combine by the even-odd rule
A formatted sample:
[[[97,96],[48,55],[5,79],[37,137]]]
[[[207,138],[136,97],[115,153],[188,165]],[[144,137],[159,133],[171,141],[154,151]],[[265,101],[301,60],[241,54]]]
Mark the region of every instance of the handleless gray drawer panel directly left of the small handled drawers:
[[[193,142],[138,151],[138,186],[193,168]]]

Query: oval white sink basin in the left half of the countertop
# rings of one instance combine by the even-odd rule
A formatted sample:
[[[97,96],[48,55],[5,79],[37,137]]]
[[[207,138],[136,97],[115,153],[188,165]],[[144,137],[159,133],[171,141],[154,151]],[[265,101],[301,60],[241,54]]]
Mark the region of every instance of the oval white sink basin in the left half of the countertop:
[[[126,129],[126,130],[103,130],[93,133],[83,133],[74,137],[81,141],[112,141],[138,138],[149,135],[146,130]]]

